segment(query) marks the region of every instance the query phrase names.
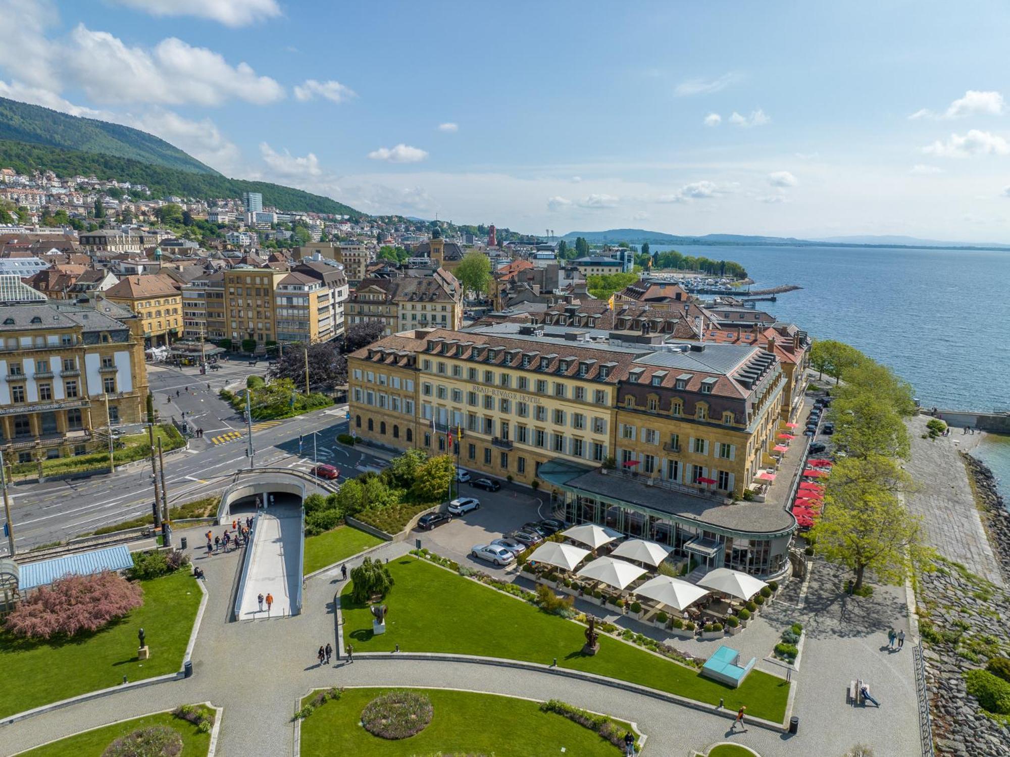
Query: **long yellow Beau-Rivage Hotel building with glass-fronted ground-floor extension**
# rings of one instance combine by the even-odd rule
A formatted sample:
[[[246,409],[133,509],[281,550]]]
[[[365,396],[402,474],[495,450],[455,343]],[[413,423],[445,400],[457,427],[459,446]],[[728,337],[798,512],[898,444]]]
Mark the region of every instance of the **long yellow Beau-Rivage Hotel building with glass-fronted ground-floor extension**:
[[[768,483],[792,419],[774,340],[505,322],[393,334],[350,355],[348,373],[351,431],[373,444],[536,480],[567,520],[708,567],[788,568],[788,483]]]

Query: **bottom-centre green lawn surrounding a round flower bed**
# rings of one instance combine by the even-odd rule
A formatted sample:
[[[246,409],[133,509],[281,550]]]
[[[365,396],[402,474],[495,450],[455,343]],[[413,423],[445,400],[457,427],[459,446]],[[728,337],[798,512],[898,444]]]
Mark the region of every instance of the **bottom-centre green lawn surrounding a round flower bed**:
[[[388,688],[347,688],[302,722],[303,757],[334,754],[369,757],[488,754],[495,757],[619,757],[621,750],[588,728],[535,701],[497,694],[424,689],[434,711],[431,723],[409,739],[387,741],[359,725],[362,711]],[[311,696],[306,697],[306,699]],[[621,728],[627,723],[615,721]]]

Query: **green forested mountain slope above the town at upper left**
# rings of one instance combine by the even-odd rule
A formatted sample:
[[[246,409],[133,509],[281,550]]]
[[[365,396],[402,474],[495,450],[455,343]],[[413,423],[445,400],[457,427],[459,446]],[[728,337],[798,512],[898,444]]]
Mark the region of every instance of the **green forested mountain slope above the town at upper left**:
[[[363,214],[335,200],[270,182],[228,179],[164,139],[117,123],[81,118],[0,97],[0,168],[19,173],[142,184],[156,197],[209,200],[260,192],[264,205],[308,213]]]

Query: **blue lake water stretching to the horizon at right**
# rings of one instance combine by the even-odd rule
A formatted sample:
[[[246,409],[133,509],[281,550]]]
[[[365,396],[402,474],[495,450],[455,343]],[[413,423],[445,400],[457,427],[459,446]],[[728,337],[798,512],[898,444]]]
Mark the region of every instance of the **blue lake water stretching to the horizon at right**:
[[[887,363],[923,407],[1010,409],[1010,251],[650,247],[736,260],[753,289],[802,287],[759,307]],[[976,454],[1010,505],[1010,438],[990,435]]]

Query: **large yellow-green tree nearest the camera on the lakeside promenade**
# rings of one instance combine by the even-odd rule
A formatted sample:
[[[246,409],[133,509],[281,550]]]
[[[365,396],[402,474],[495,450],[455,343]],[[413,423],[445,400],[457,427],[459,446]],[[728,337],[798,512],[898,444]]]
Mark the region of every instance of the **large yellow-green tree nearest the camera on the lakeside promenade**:
[[[908,554],[928,556],[920,543],[922,519],[905,509],[868,466],[851,458],[839,460],[828,479],[824,514],[811,531],[814,548],[830,562],[852,571],[853,589],[863,587],[866,571],[882,581],[905,577]]]

